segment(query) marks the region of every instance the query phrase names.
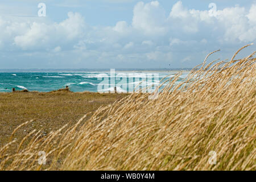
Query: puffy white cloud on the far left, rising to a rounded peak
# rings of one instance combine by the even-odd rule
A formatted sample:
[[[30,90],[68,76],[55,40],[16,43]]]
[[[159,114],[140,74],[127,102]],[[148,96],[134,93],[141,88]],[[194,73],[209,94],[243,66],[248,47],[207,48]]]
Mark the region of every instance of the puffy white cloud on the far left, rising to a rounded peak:
[[[15,25],[17,23],[14,23]],[[72,42],[82,38],[86,30],[84,18],[78,13],[68,13],[68,19],[58,23],[38,23],[18,24],[25,26],[27,30],[24,34],[14,37],[16,46],[22,49],[49,48],[59,43]],[[8,27],[6,28],[8,30]]]

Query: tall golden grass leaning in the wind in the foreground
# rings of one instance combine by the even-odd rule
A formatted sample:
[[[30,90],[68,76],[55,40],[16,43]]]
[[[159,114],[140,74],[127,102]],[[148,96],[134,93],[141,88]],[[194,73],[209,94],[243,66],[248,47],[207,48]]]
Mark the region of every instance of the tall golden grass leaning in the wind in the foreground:
[[[170,78],[156,100],[130,94],[75,126],[45,137],[32,131],[14,155],[10,138],[0,148],[0,169],[255,170],[255,52],[234,60],[238,52],[206,65],[210,53],[180,84],[180,74]],[[39,151],[46,166],[38,164]],[[210,151],[216,164],[208,162]]]

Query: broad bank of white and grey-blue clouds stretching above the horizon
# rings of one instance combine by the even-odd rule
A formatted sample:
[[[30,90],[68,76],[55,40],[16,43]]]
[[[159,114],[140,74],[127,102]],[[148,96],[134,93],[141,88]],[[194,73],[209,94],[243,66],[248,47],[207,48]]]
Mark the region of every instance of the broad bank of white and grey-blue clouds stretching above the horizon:
[[[255,12],[256,4],[250,9],[226,7],[212,15],[209,10],[187,9],[181,1],[170,12],[158,1],[138,2],[132,22],[107,27],[90,26],[72,12],[59,23],[0,16],[0,63],[10,68],[7,60],[18,63],[29,57],[40,61],[40,67],[55,68],[194,67],[215,48],[224,47],[225,56],[255,42]]]

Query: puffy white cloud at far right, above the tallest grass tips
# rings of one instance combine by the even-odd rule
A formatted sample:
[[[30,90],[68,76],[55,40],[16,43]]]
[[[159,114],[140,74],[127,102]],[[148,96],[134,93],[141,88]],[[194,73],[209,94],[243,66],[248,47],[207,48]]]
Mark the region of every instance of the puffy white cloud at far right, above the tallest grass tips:
[[[255,10],[256,6],[251,5],[247,14],[245,7],[234,6],[218,10],[216,16],[210,16],[206,10],[188,10],[179,1],[172,7],[168,22],[175,24],[175,28],[180,27],[185,34],[212,33],[218,36],[220,43],[250,42],[256,39]]]

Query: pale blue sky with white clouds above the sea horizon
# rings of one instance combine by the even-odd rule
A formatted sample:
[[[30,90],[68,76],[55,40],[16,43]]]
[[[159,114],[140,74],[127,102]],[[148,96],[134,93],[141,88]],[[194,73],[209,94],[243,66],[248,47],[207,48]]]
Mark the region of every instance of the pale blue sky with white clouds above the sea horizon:
[[[193,68],[255,40],[254,0],[0,2],[0,69]]]

